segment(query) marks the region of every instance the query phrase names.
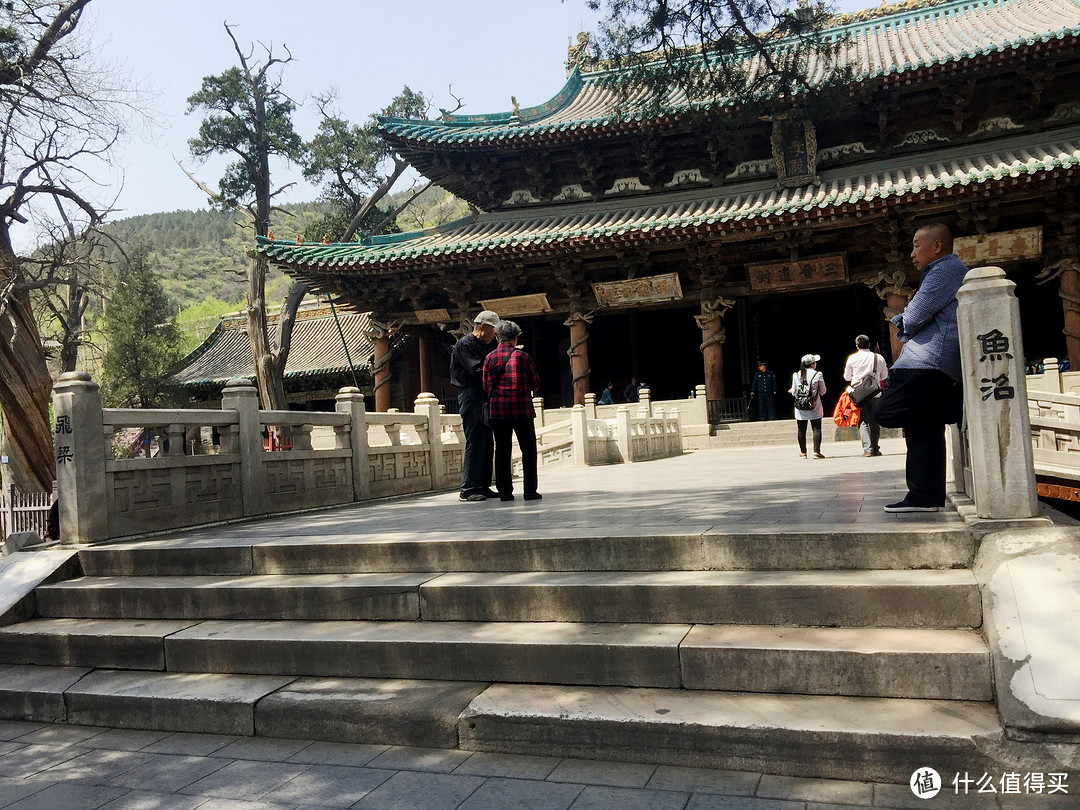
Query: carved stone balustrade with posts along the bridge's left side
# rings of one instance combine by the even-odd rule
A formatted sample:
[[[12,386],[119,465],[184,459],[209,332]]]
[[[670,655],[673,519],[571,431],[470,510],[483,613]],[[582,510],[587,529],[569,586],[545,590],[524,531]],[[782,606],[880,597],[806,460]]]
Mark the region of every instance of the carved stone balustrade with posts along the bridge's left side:
[[[334,413],[259,410],[255,387],[234,379],[220,410],[117,409],[103,408],[97,383],[73,372],[60,377],[53,405],[66,542],[460,483],[461,418],[443,414],[431,394],[411,414],[369,414],[354,388],[341,389]],[[316,448],[314,431],[333,441]]]

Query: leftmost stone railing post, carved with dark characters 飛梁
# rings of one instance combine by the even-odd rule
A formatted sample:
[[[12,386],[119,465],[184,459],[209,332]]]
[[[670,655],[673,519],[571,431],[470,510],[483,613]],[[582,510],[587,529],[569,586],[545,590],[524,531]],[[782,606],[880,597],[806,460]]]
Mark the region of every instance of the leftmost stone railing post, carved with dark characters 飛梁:
[[[102,392],[86,372],[68,372],[53,386],[56,487],[65,543],[109,538]]]

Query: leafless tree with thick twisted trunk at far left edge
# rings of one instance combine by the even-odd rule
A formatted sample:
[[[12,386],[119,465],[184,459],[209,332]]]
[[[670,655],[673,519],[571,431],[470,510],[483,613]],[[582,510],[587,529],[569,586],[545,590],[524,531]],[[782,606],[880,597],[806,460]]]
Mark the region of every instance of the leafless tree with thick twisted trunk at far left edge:
[[[100,222],[108,205],[91,197],[93,173],[109,163],[132,110],[122,82],[77,36],[89,2],[0,3],[0,409],[4,483],[24,490],[50,489],[55,471],[52,379],[30,295],[68,285],[78,327],[83,282],[70,267],[28,261],[12,231],[26,226],[48,244],[56,222],[75,233]]]

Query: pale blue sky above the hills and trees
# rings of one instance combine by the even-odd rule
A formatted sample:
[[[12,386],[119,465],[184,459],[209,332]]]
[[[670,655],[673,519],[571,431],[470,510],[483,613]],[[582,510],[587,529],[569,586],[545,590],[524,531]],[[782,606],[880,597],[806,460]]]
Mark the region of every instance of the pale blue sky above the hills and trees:
[[[841,0],[838,6],[876,4]],[[241,44],[272,44],[282,56],[288,46],[295,60],[284,68],[283,85],[303,105],[294,120],[308,138],[316,124],[309,98],[330,86],[355,122],[386,106],[403,84],[432,96],[437,107],[453,106],[453,85],[468,113],[509,110],[511,95],[523,107],[544,102],[566,80],[570,37],[593,28],[595,17],[585,0],[94,0],[85,22],[102,60],[154,91],[144,102],[162,123],[157,132],[136,127],[118,154],[124,171],[117,203],[122,211],[111,216],[118,219],[205,207],[205,194],[174,158],[216,188],[225,163],[199,166],[188,157],[199,117],[185,111],[204,76],[235,64],[225,22],[237,26]],[[275,170],[275,185],[296,177]],[[308,201],[315,193],[301,185],[287,200]]]

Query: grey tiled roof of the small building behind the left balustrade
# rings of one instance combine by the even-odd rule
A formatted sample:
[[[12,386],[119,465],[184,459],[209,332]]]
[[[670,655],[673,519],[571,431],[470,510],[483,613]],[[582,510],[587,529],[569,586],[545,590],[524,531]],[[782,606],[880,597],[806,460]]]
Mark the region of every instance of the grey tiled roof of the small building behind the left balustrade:
[[[369,313],[338,309],[341,330],[349,343],[349,354],[357,370],[367,368],[374,351],[366,336]],[[314,377],[349,370],[345,347],[328,308],[303,313],[293,329],[285,378]],[[252,345],[246,324],[238,319],[222,320],[202,345],[184,360],[181,368],[170,376],[175,386],[194,387],[222,383],[232,377],[255,377]]]

